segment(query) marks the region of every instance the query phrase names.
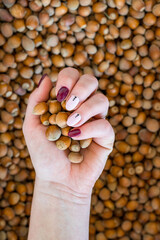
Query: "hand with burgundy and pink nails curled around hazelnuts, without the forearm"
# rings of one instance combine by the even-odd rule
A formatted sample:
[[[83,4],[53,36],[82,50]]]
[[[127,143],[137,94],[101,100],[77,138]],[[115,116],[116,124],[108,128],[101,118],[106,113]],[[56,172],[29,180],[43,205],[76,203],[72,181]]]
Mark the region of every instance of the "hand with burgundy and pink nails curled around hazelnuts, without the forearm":
[[[62,93],[62,87],[66,92]],[[66,153],[56,148],[54,142],[46,139],[46,127],[40,122],[39,116],[32,114],[34,106],[42,101],[47,101],[52,83],[45,76],[40,86],[29,97],[23,132],[28,150],[36,171],[36,178],[41,182],[49,182],[57,189],[73,194],[75,197],[88,197],[92,188],[100,176],[108,155],[112,151],[114,143],[114,131],[110,123],[105,120],[108,112],[108,99],[102,93],[96,92],[97,79],[92,75],[82,75],[74,68],[65,68],[60,71],[56,83],[57,98],[62,101],[66,96],[66,106],[73,113],[68,118],[68,124],[81,132],[72,137],[75,140],[93,138],[91,145],[83,149],[84,160],[79,164],[70,163]],[[76,101],[69,98],[76,96]],[[73,97],[74,98],[74,97]],[[72,99],[73,99],[72,98]],[[79,102],[78,102],[79,100]],[[79,114],[74,118],[74,114]],[[94,121],[86,123],[91,117]],[[78,121],[73,125],[73,121]],[[72,131],[73,135],[74,131]]]

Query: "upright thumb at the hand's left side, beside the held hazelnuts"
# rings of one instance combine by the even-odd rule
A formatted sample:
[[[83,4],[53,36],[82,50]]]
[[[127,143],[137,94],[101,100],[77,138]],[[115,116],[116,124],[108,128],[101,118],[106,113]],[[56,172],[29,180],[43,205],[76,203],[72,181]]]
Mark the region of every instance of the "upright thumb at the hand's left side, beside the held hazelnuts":
[[[33,114],[33,108],[36,104],[48,100],[51,88],[52,82],[49,79],[48,75],[43,75],[39,82],[39,86],[31,93],[29,97],[24,121],[24,128],[26,127],[33,129],[38,124],[40,124],[39,116]]]

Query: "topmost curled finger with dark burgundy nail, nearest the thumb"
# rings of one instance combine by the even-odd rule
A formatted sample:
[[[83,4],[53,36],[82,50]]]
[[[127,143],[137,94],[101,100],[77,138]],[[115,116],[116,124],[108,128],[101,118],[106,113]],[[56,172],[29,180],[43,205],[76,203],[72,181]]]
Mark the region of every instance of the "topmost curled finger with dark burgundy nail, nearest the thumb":
[[[56,96],[59,102],[65,100],[67,95],[71,92],[80,77],[77,69],[67,67],[61,70],[58,74],[56,83]]]

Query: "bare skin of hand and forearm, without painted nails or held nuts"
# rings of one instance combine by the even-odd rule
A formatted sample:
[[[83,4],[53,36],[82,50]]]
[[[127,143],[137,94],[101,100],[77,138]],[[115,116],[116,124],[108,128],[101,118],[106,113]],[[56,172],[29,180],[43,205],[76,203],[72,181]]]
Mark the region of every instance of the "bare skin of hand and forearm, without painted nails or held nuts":
[[[46,127],[32,114],[34,106],[49,98],[52,83],[48,76],[30,96],[23,125],[25,140],[36,172],[32,202],[29,240],[87,240],[92,188],[113,149],[114,131],[105,119],[108,99],[96,92],[98,81],[91,75],[79,75],[74,68],[65,68],[56,83],[56,94],[61,87],[69,93],[66,102],[74,95],[79,98],[74,113],[81,120],[72,125],[81,134],[75,140],[93,138],[84,149],[80,164],[70,163],[68,150],[60,151],[45,137]],[[91,117],[94,121],[86,123]]]

